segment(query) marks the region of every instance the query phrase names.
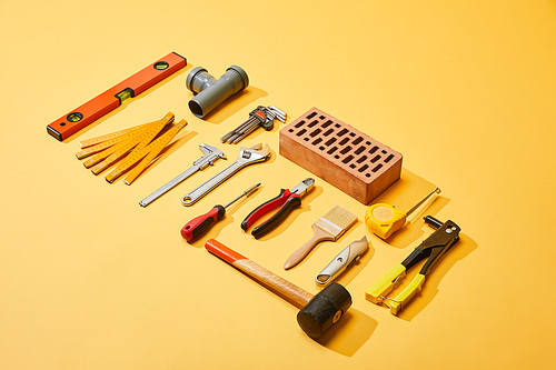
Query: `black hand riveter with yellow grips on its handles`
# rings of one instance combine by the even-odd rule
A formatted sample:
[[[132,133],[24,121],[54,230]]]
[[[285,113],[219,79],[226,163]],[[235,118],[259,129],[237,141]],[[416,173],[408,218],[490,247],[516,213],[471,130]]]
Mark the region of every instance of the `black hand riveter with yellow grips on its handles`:
[[[409,302],[415,294],[421,291],[425,277],[436,266],[444,254],[459,240],[459,227],[451,220],[441,223],[435,218],[427,216],[425,221],[437,230],[425,239],[401,263],[397,264],[373,284],[366,292],[365,298],[373,303],[390,308],[390,313],[398,312]],[[388,298],[404,278],[407,270],[423,259],[428,258],[419,273],[399,294]]]

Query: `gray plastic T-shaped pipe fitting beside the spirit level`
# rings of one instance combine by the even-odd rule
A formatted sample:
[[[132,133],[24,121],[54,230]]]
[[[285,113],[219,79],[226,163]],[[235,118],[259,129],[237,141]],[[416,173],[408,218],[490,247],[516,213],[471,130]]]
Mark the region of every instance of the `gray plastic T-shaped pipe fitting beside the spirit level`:
[[[249,78],[238,66],[231,66],[218,80],[202,67],[196,67],[189,72],[186,87],[196,94],[189,100],[191,112],[202,118],[226,99],[247,88]]]

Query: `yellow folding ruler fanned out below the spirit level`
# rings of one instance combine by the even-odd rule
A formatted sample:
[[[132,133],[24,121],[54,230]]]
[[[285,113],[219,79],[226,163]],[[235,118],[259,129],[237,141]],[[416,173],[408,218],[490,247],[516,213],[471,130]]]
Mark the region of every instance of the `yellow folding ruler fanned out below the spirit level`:
[[[187,126],[186,120],[173,124],[173,113],[169,112],[155,122],[81,141],[79,146],[82,150],[76,153],[76,157],[78,159],[90,157],[83,161],[83,166],[90,168],[95,174],[120,161],[106,180],[112,183],[129,171],[123,182],[131,184]]]

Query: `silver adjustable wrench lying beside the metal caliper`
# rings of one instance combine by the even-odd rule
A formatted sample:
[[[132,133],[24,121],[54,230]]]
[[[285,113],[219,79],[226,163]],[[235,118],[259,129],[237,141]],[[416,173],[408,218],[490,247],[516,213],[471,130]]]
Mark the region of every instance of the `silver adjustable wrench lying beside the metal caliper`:
[[[216,187],[228,180],[234,173],[249,164],[265,162],[270,158],[270,148],[267,144],[255,144],[251,148],[241,148],[238,159],[224,169],[220,173],[202,183],[197,189],[190,191],[181,198],[181,204],[192,206],[199,199],[208,194]]]

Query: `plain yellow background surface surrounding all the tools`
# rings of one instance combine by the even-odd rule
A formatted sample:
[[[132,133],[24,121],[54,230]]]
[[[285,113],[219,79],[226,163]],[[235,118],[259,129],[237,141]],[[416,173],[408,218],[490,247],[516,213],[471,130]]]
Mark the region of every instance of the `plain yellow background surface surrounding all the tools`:
[[[0,1],[0,369],[548,368],[555,338],[555,1]],[[60,143],[46,126],[176,51],[187,69]],[[185,79],[242,67],[251,86],[207,120]],[[400,208],[443,189],[430,213],[461,227],[399,318],[365,290],[423,240],[366,231],[366,206],[320,179],[261,241],[239,229],[262,201],[310,176],[278,156],[278,129],[242,142],[274,157],[192,208],[179,199],[237,158],[218,138],[257,104],[291,119],[311,107],[404,154]],[[172,111],[180,146],[128,187],[75,158],[79,140]],[[191,166],[198,144],[229,157],[143,209],[137,202]],[[208,237],[316,293],[314,278],[364,234],[361,262],[338,281],[354,304],[320,341],[297,309],[192,246],[180,228],[255,182]],[[359,217],[338,243],[284,271],[334,204]],[[208,238],[207,237],[207,238]]]

